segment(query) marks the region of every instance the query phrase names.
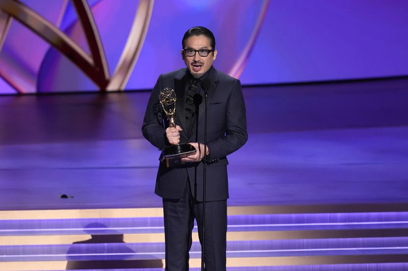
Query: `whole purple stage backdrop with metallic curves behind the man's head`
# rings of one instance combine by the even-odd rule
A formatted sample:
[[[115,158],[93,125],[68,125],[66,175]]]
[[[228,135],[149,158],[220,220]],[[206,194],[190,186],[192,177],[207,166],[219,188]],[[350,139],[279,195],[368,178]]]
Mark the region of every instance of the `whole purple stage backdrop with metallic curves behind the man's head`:
[[[195,25],[243,84],[408,75],[406,0],[78,3],[0,0],[0,94],[150,89]]]

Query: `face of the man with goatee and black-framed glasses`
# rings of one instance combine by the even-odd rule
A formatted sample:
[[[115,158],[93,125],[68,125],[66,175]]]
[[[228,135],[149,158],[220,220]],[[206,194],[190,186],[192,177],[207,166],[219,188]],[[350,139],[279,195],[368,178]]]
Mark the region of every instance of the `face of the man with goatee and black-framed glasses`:
[[[208,49],[211,50],[210,39],[204,35],[191,36],[185,41],[183,49]],[[194,78],[200,78],[208,70],[210,70],[215,58],[217,56],[217,50],[210,52],[207,56],[200,56],[198,52],[194,56],[183,55],[184,63],[186,63],[187,68],[190,70],[191,75]]]

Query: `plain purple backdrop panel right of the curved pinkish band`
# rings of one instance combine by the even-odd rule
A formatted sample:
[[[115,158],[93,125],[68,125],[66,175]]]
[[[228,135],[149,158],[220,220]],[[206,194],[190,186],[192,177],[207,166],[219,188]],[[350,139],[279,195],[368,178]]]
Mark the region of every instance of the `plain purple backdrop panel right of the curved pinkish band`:
[[[278,83],[408,74],[408,2],[272,1],[241,80]]]

